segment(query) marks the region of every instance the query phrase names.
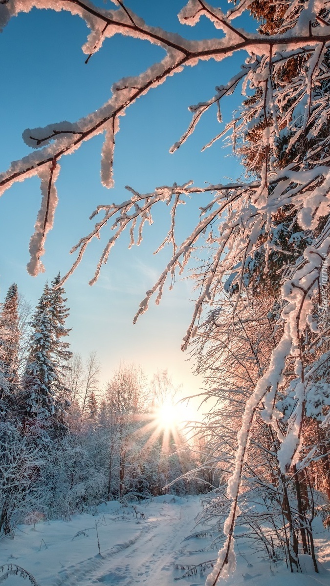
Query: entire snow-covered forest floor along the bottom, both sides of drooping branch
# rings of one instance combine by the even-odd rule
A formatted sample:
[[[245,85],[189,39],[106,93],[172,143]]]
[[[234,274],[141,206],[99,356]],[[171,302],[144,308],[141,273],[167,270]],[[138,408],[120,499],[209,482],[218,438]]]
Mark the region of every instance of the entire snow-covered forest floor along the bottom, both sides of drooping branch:
[[[40,586],[202,586],[206,576],[199,571],[176,581],[184,574],[181,566],[217,555],[214,550],[200,551],[208,544],[206,537],[185,539],[193,533],[194,517],[200,510],[198,496],[165,495],[127,507],[110,502],[98,507],[95,516],[77,515],[70,522],[21,525],[14,539],[1,541],[0,564],[25,568]],[[318,519],[315,541],[319,574],[312,570],[308,556],[301,557],[303,573],[290,574],[285,565],[275,567],[262,553],[251,554],[241,541],[237,570],[228,586],[330,586],[330,533]],[[5,584],[22,586],[26,582],[19,575],[10,575]]]

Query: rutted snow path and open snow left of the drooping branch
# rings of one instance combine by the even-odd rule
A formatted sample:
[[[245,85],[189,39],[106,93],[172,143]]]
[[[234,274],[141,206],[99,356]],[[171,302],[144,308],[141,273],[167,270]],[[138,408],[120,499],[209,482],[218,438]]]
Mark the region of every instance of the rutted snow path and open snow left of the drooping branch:
[[[20,526],[14,540],[2,540],[1,564],[20,565],[40,586],[174,584],[174,565],[201,510],[199,498],[164,495],[134,508],[113,502],[98,510],[96,517]],[[6,581],[7,586],[23,583],[16,576]]]

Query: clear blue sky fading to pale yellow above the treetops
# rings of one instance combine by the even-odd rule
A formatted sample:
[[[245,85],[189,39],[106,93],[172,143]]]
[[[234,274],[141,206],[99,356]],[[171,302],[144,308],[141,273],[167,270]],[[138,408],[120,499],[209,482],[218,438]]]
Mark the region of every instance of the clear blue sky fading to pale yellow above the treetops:
[[[96,4],[104,5],[101,0]],[[106,5],[112,6],[110,2]],[[176,18],[184,5],[181,0],[164,3],[129,0],[126,5],[148,24],[179,32],[187,38],[213,37],[219,33],[204,18],[194,28],[181,26]],[[251,23],[248,26],[251,28]],[[85,65],[81,46],[87,32],[85,23],[69,13],[33,9],[28,15],[12,19],[0,35],[4,80],[0,111],[1,171],[11,161],[30,152],[22,141],[26,127],[78,120],[109,99],[113,82],[139,74],[163,56],[160,47],[116,35],[107,39]],[[51,281],[59,271],[65,274],[72,264],[74,259],[69,250],[92,228],[90,213],[100,203],[127,199],[125,185],[144,193],[174,181],[183,183],[194,179],[196,185],[203,185],[236,179],[241,174],[240,165],[221,141],[200,152],[220,131],[215,110],[206,114],[193,137],[179,151],[170,155],[169,148],[190,121],[188,106],[213,96],[214,87],[230,79],[243,60],[240,54],[221,63],[209,61],[187,67],[133,104],[120,119],[120,132],[116,135],[114,189],[109,191],[100,184],[102,136],[62,159],[56,184],[59,206],[43,257],[46,272],[36,278],[30,277],[25,267],[40,205],[39,182],[29,179],[7,190],[0,202],[1,299],[15,281],[35,305],[45,280]],[[223,101],[224,120],[231,119],[240,100],[238,93]],[[197,222],[198,206],[203,202],[202,197],[196,197],[190,207],[181,206],[178,229],[182,238]],[[147,314],[137,325],[132,325],[139,302],[170,255],[169,248],[156,257],[153,255],[169,227],[169,215],[164,207],[155,217],[157,222],[146,228],[139,248],[127,250],[127,235],[117,243],[99,281],[89,287],[88,281],[109,233],[103,233],[103,240],[92,243],[65,285],[70,306],[68,325],[72,327],[70,342],[72,350],[83,356],[96,350],[104,381],[120,360],[128,360],[140,364],[150,376],[157,369],[167,368],[174,382],[183,384],[183,393],[197,393],[201,379],[194,379],[192,365],[186,362],[187,353],[180,350],[193,309],[192,283],[178,281],[173,291],[164,293],[160,306],[151,304]]]

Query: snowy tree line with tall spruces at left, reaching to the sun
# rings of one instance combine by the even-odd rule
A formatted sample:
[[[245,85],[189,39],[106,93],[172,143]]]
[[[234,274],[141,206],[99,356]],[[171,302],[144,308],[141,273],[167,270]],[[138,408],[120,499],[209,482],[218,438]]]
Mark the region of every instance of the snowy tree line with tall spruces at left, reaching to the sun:
[[[0,306],[0,535],[23,520],[69,519],[105,500],[204,490],[179,428],[157,429],[174,387],[121,364],[101,387],[95,352],[70,351],[57,275],[31,315],[16,284]],[[166,437],[167,436],[167,437]]]

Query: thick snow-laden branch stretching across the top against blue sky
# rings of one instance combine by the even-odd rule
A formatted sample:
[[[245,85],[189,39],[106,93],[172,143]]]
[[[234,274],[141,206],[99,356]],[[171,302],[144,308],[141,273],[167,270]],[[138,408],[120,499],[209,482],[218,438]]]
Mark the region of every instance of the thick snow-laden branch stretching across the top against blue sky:
[[[39,174],[39,168],[43,166],[47,168],[52,161],[59,161],[63,155],[72,153],[79,148],[83,141],[94,137],[100,132],[106,133],[102,151],[102,183],[110,187],[113,185],[112,161],[115,134],[119,130],[117,117],[123,115],[126,108],[138,97],[149,91],[151,87],[156,87],[158,84],[163,83],[168,76],[179,73],[183,66],[194,65],[200,59],[212,58],[220,60],[241,49],[247,50],[250,54],[262,55],[269,52],[267,47],[274,47],[273,54],[275,54],[276,51],[281,52],[284,47],[292,47],[292,49],[299,47],[299,50],[301,50],[301,47],[304,46],[305,54],[317,55],[314,58],[311,74],[311,77],[316,79],[321,55],[324,54],[330,40],[329,30],[324,32],[324,27],[322,26],[308,30],[308,34],[300,27],[299,36],[297,36],[297,31],[294,31],[292,35],[287,33],[285,41],[279,35],[273,37],[250,35],[240,29],[235,29],[231,24],[235,16],[233,11],[229,11],[227,15],[224,15],[219,9],[212,8],[206,2],[194,0],[188,2],[186,8],[181,11],[179,15],[180,22],[194,24],[203,14],[211,19],[215,29],[222,29],[225,36],[221,39],[191,41],[179,35],[167,33],[160,28],[146,25],[139,16],[127,9],[123,2],[117,2],[117,6],[118,8],[115,10],[100,9],[94,6],[92,2],[82,2],[80,0],[56,0],[56,2],[55,0],[26,0],[23,4],[17,0],[8,0],[8,2],[0,5],[0,23],[2,26],[5,26],[12,16],[17,15],[19,12],[29,12],[34,7],[39,9],[49,8],[55,11],[66,10],[71,12],[72,15],[79,15],[92,31],[87,43],[83,46],[84,52],[89,57],[100,49],[104,38],[111,37],[115,33],[149,40],[149,42],[166,50],[166,57],[161,62],[151,66],[139,77],[123,79],[116,83],[112,88],[110,100],[95,113],[87,115],[77,122],[56,122],[44,128],[25,130],[23,139],[26,144],[32,148],[38,148],[39,152],[12,163],[8,171],[1,173],[0,195],[14,182]],[[237,8],[237,15],[239,12],[240,9]],[[310,59],[313,59],[313,57]],[[261,69],[261,66],[258,61],[255,61],[252,66],[251,64],[243,66],[242,71],[236,74],[227,86],[217,88],[217,94],[214,98],[206,103],[191,107],[194,112],[193,121],[180,141],[174,144],[172,152],[179,148],[193,132],[201,114],[211,105],[217,104],[218,119],[221,120],[219,108],[221,98],[232,93],[241,79],[248,75],[251,68],[254,70],[255,76],[260,75],[258,70]],[[267,76],[267,69],[264,69],[264,73],[262,73],[263,79],[265,75]],[[38,267],[36,267],[36,271],[38,271]]]

